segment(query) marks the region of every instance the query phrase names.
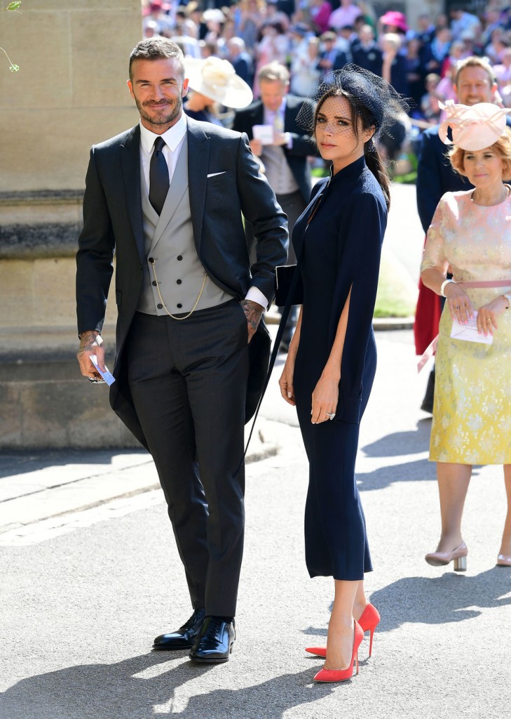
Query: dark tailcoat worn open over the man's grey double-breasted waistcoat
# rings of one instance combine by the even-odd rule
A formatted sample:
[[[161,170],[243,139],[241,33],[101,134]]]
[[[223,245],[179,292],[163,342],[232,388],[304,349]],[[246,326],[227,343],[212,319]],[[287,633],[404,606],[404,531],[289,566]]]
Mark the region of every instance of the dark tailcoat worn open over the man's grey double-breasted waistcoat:
[[[253,285],[270,300],[273,270],[286,261],[286,215],[258,171],[247,137],[206,122],[188,122],[189,201],[194,242],[213,282],[241,300]],[[212,178],[207,175],[222,173]],[[78,332],[101,330],[116,252],[116,383],[110,400],[133,434],[145,444],[125,380],[123,346],[139,302],[146,256],[141,211],[139,126],[95,145],[83,199],[78,240]],[[250,267],[243,219],[253,224],[257,259]],[[250,342],[247,418],[255,410],[266,374],[269,335],[261,327]]]

